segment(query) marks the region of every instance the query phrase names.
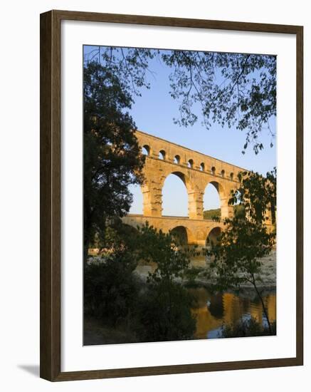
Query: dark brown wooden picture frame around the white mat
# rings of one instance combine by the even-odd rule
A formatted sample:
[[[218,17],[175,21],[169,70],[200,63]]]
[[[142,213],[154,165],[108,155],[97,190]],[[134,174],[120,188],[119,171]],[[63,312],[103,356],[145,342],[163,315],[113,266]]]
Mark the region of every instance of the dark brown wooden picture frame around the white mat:
[[[220,363],[197,363],[142,368],[60,371],[60,22],[97,21],[122,24],[192,27],[288,33],[296,36],[297,59],[297,293],[296,356]],[[303,364],[303,27],[233,21],[96,14],[77,11],[48,11],[41,14],[41,299],[40,375],[49,381],[149,376],[171,373],[225,371],[246,368],[298,366]]]

